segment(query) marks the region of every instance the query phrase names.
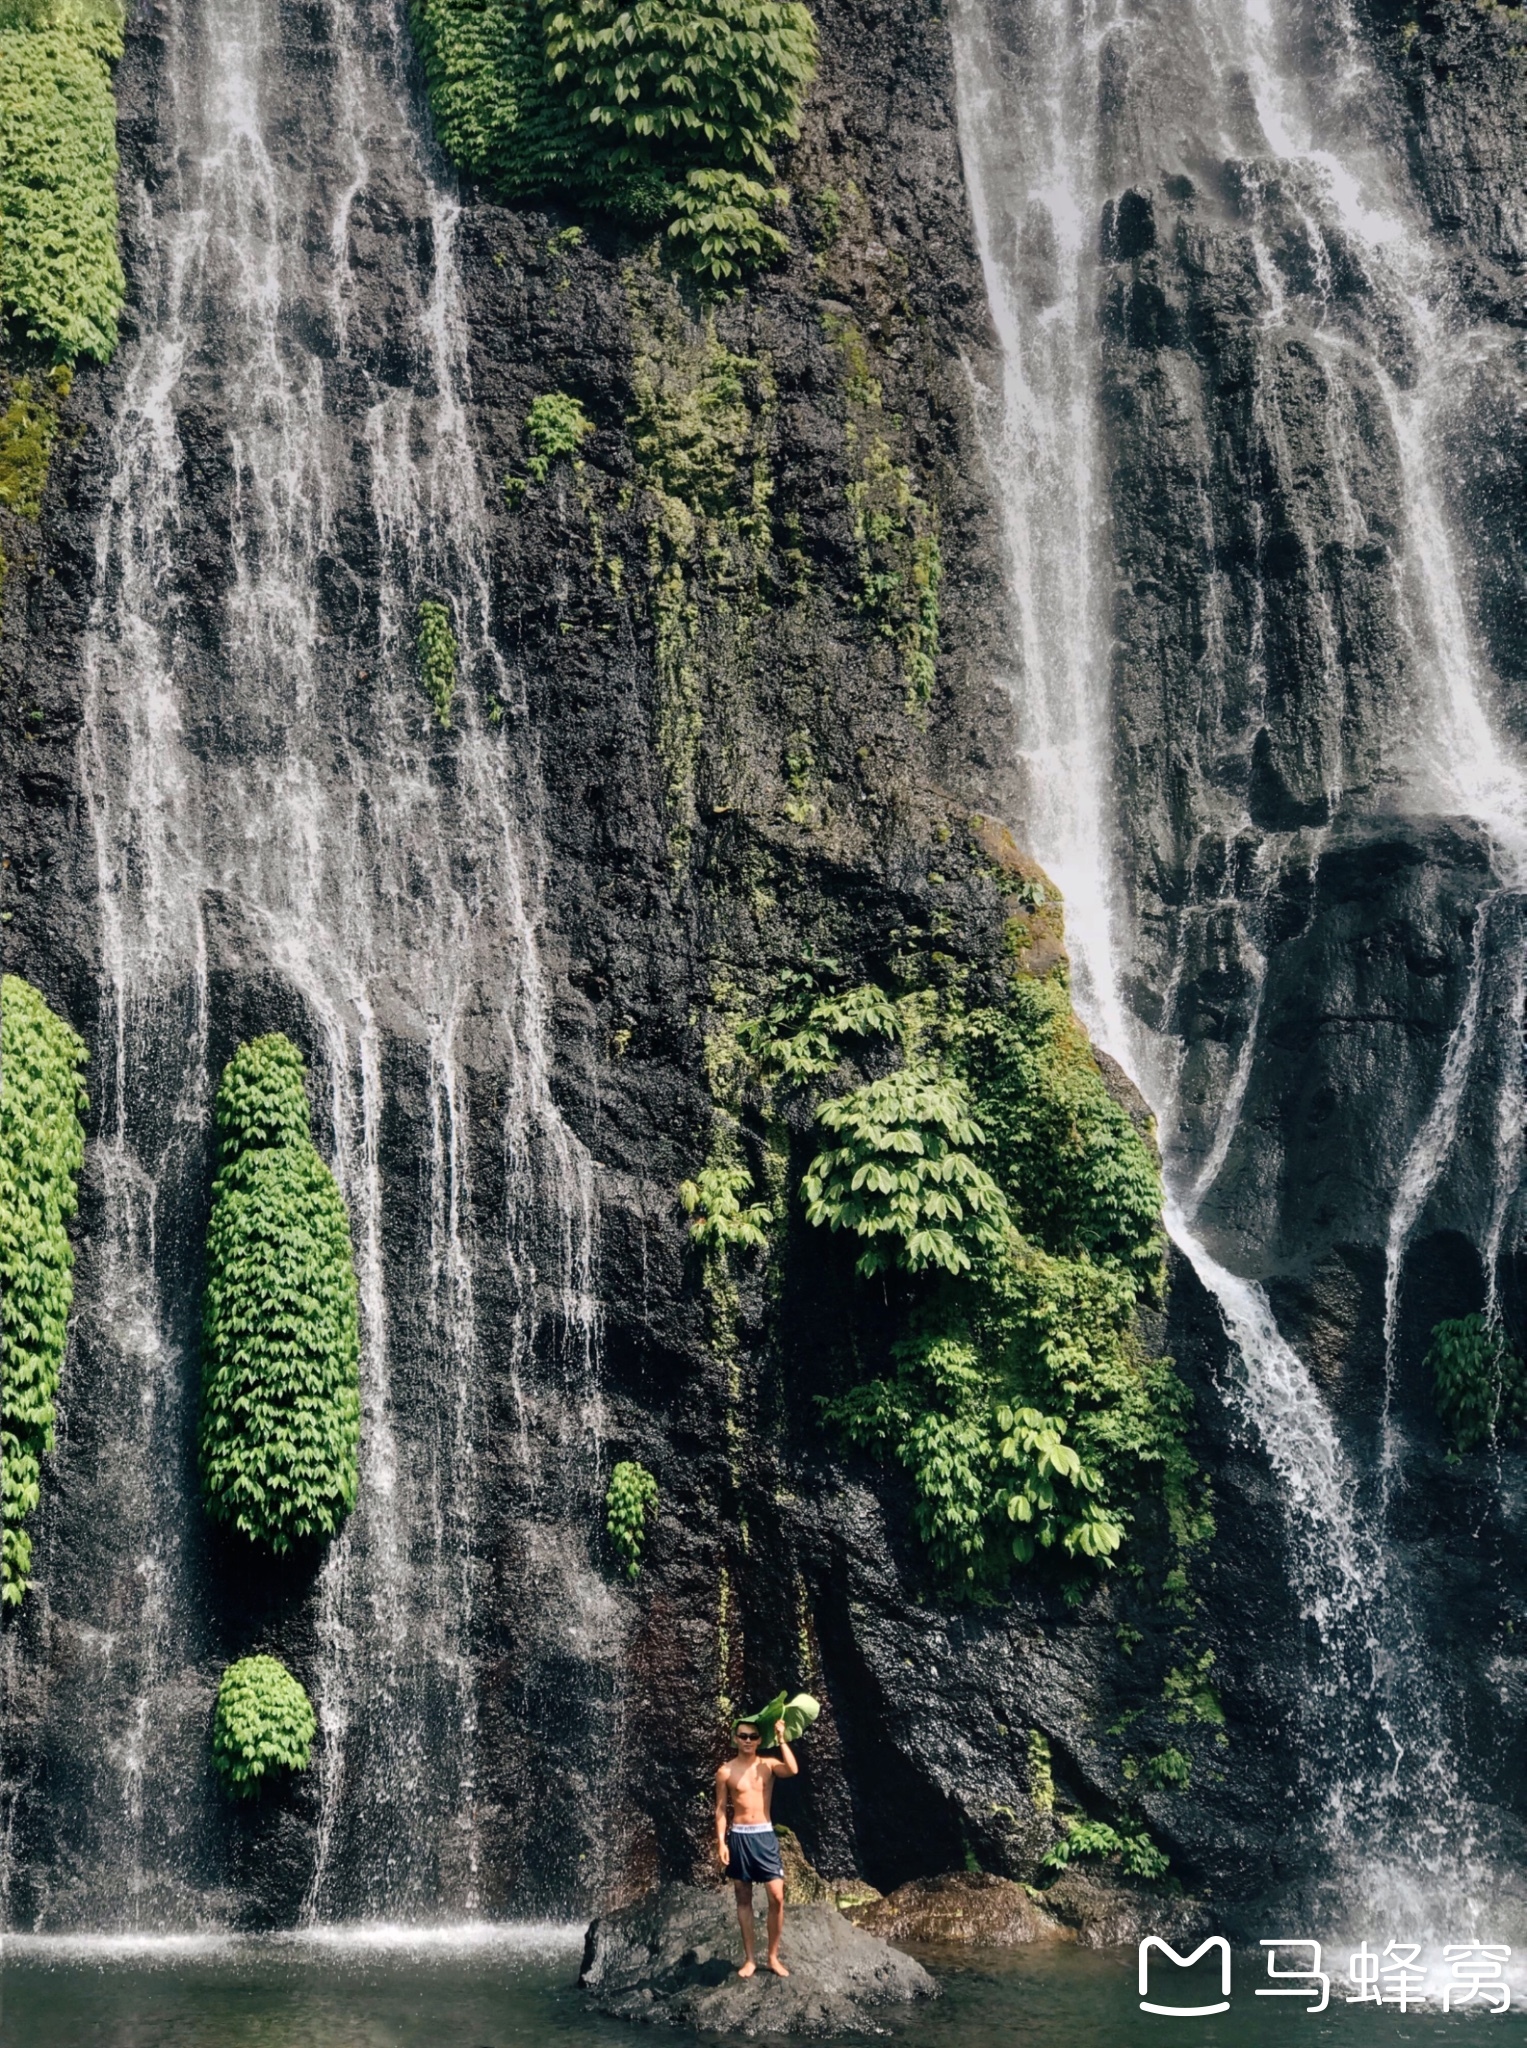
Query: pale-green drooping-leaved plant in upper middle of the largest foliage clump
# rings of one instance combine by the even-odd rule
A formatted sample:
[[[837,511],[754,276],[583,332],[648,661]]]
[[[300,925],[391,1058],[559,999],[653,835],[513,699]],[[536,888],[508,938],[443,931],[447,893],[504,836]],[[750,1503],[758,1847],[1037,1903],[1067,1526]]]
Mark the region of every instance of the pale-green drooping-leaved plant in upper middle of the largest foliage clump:
[[[806,1221],[866,1241],[858,1272],[968,1272],[995,1251],[1007,1202],[970,1147],[985,1133],[954,1075],[917,1059],[823,1104],[817,1122],[833,1145],[811,1161],[800,1192]]]

